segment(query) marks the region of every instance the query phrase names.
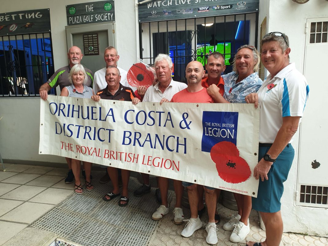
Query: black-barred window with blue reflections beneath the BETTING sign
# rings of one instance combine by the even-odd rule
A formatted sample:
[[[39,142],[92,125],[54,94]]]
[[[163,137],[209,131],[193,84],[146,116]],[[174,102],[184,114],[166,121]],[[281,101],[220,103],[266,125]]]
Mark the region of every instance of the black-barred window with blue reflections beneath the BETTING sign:
[[[0,37],[0,97],[38,96],[53,73],[50,32]]]

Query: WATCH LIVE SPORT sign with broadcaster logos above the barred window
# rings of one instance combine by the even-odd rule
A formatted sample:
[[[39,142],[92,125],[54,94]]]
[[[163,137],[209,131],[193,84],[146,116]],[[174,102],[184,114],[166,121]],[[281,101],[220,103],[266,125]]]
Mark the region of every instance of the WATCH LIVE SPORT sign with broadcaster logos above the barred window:
[[[143,2],[143,0],[138,0]],[[138,5],[139,22],[258,12],[259,0],[153,0]]]

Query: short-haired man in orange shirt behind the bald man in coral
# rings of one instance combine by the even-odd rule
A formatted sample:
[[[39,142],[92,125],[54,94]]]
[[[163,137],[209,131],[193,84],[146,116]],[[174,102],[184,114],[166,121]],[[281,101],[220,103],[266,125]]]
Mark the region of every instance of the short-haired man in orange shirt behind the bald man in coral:
[[[220,94],[224,93],[224,82],[221,73],[224,72],[226,66],[224,65],[224,55],[220,52],[213,52],[207,57],[207,77],[202,79],[202,86],[208,88],[210,85],[215,84]]]

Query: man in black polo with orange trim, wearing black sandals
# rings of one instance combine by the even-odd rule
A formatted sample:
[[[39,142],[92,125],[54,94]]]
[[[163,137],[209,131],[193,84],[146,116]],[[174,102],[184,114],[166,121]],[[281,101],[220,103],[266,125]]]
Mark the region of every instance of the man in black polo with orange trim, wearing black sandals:
[[[100,99],[109,99],[109,100],[120,100],[120,101],[128,101],[133,104],[137,104],[140,102],[140,99],[135,97],[133,90],[130,87],[123,86],[120,83],[121,74],[120,71],[113,66],[109,66],[106,69],[105,80],[107,82],[107,86],[105,89],[97,92],[96,95],[91,97],[94,101],[99,101]],[[103,199],[105,201],[111,201],[116,196],[120,195],[120,189],[118,186],[118,169],[114,167],[107,167],[107,172],[113,183],[113,191],[104,195]],[[118,202],[118,205],[123,207],[128,205],[128,185],[129,185],[129,177],[130,170],[121,170],[122,174],[122,196]]]

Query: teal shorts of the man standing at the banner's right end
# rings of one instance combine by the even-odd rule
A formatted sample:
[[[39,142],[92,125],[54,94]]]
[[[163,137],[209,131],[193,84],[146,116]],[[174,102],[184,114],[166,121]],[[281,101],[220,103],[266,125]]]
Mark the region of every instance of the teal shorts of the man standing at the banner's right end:
[[[270,147],[258,148],[258,161],[269,151]],[[259,179],[257,198],[252,197],[252,208],[265,213],[280,211],[280,199],[284,191],[283,182],[287,180],[294,159],[294,148],[288,144],[279,154],[269,170],[268,180]]]

